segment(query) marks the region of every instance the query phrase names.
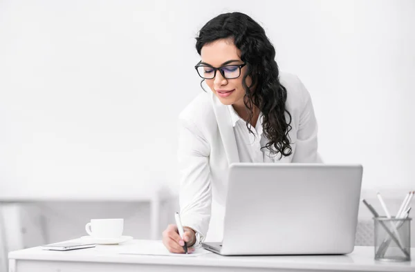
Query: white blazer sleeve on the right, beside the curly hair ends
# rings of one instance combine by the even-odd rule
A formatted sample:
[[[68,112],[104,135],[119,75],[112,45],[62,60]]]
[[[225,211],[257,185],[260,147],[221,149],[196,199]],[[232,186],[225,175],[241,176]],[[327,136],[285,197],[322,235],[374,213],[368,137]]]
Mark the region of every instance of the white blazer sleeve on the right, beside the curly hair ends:
[[[300,111],[297,129],[297,142],[293,155],[293,162],[322,162],[317,152],[317,120],[315,119],[313,103],[310,93],[297,77],[297,86],[302,95],[302,110]]]

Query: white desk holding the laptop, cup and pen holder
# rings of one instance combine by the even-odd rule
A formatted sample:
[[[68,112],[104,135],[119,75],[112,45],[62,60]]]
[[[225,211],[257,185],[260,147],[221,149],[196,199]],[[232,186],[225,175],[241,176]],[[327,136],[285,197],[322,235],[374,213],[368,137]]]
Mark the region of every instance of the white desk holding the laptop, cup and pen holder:
[[[118,246],[75,251],[42,251],[39,247],[9,253],[9,272],[48,271],[415,271],[412,262],[377,262],[374,248],[356,246],[349,255],[198,257],[121,255],[120,246],[144,244],[132,240]],[[117,248],[118,247],[118,248]],[[415,259],[412,250],[412,259]]]

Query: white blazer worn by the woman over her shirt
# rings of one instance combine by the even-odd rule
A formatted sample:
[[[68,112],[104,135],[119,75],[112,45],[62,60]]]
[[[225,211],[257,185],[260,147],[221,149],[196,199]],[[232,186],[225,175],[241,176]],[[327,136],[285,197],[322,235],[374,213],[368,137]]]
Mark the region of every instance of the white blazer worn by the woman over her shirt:
[[[280,73],[279,81],[287,90],[293,153],[277,155],[275,162],[320,162],[310,94],[296,75]],[[239,162],[230,112],[212,92],[201,93],[181,112],[178,129],[182,224],[198,231],[201,240],[221,242],[228,170]]]

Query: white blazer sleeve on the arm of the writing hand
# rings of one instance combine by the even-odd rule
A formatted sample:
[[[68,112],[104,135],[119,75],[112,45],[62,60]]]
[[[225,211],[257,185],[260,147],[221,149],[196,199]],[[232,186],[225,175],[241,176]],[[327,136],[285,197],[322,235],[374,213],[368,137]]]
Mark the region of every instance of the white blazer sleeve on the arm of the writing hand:
[[[210,144],[190,120],[178,122],[179,204],[183,226],[197,231],[201,242],[208,232],[212,187],[210,183]]]

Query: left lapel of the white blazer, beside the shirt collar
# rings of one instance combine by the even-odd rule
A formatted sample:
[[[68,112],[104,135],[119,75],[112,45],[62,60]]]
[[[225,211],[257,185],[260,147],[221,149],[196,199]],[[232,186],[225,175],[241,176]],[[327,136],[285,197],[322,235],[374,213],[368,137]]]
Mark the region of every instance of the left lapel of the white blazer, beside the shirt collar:
[[[219,101],[214,93],[212,93],[212,104],[219,132],[221,133],[223,148],[225,148],[225,154],[228,159],[228,164],[230,165],[234,162],[239,162],[237,140],[235,139],[229,110],[221,103],[221,101]]]

